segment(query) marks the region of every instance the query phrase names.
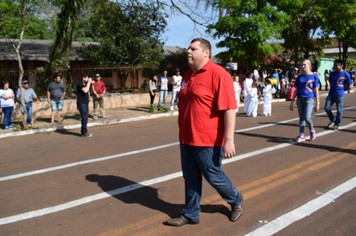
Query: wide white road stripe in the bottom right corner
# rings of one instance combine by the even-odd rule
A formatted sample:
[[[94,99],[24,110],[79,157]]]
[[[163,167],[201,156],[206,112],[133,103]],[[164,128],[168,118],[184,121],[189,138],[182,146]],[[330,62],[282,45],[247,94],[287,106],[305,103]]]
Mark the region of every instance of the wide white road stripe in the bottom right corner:
[[[341,195],[356,188],[356,177],[346,181],[345,183],[333,188],[329,192],[313,199],[310,202],[290,211],[277,219],[255,229],[254,231],[246,234],[246,236],[268,236],[277,233],[278,231],[286,228],[288,225],[299,221],[312,213],[320,210],[321,208],[332,203],[335,199]]]

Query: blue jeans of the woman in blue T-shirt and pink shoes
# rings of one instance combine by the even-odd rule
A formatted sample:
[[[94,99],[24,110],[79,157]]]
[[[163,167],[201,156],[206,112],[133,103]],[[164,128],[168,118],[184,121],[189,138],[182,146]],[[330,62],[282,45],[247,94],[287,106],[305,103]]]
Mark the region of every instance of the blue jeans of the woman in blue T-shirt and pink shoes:
[[[314,99],[298,97],[297,99],[299,113],[299,136],[304,136],[305,122],[307,122],[310,131],[314,129],[311,113],[314,107]]]

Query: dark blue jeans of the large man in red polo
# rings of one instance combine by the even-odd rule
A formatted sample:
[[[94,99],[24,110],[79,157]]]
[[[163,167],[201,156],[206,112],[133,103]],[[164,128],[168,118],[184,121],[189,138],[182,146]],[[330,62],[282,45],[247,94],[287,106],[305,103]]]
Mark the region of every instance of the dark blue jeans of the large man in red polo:
[[[241,203],[241,194],[221,169],[221,147],[195,147],[181,143],[180,152],[185,181],[185,206],[182,213],[186,218],[199,221],[202,175],[231,206]]]

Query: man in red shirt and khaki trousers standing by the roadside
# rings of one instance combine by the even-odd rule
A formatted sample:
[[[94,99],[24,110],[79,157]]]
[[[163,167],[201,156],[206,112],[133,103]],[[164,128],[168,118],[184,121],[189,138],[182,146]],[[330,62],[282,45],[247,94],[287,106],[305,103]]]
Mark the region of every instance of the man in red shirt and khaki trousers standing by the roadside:
[[[93,83],[93,105],[94,105],[94,117],[93,119],[98,119],[101,116],[106,119],[105,107],[104,107],[104,95],[106,93],[106,87],[103,81],[101,81],[100,74],[96,74],[95,81]],[[98,112],[99,110],[99,112]]]

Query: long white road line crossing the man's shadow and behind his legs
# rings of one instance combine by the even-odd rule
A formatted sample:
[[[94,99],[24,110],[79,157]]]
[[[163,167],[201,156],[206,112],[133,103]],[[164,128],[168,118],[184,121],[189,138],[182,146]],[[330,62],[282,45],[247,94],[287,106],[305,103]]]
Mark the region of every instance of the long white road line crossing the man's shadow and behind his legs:
[[[352,127],[352,126],[356,126],[356,123],[351,123],[349,125],[339,127],[339,129],[342,130],[342,129],[346,129],[346,128],[349,128],[349,127]],[[333,133],[333,132],[338,132],[338,131],[328,130],[328,131],[324,131],[324,132],[318,133],[318,136],[323,136],[323,135],[330,134],[330,133]],[[264,153],[264,152],[274,151],[276,149],[288,147],[288,146],[294,145],[294,144],[297,144],[297,143],[296,142],[283,143],[283,144],[279,144],[279,145],[276,145],[276,146],[273,146],[273,147],[268,147],[268,148],[264,148],[264,149],[261,149],[261,150],[245,153],[245,154],[242,154],[242,155],[235,156],[235,157],[233,157],[231,159],[224,160],[223,164],[239,161],[239,160],[242,160],[242,159],[245,159],[245,158],[248,158],[248,157],[252,157],[252,156]],[[135,190],[135,189],[139,189],[139,188],[142,188],[144,186],[150,186],[150,185],[153,185],[153,184],[162,183],[162,182],[165,182],[165,181],[168,181],[168,180],[172,180],[172,179],[175,179],[175,178],[178,178],[178,177],[181,177],[181,176],[182,176],[182,172],[179,171],[179,172],[172,173],[172,174],[169,174],[169,175],[161,176],[161,177],[150,179],[150,180],[145,180],[145,181],[142,181],[142,182],[139,182],[139,183],[136,183],[136,184],[132,184],[132,185],[128,185],[128,186],[125,186],[125,187],[122,187],[122,188],[114,189],[114,190],[111,190],[109,192],[98,193],[98,194],[91,195],[91,196],[88,196],[88,197],[80,198],[80,199],[77,199],[77,200],[74,200],[74,201],[71,201],[71,202],[67,202],[67,203],[64,203],[64,204],[60,204],[60,205],[57,205],[57,206],[42,208],[42,209],[35,210],[35,211],[30,211],[30,212],[26,212],[26,213],[14,215],[14,216],[1,218],[0,219],[0,225],[10,224],[10,223],[14,223],[14,222],[21,221],[21,220],[31,219],[31,218],[34,218],[34,217],[39,217],[39,216],[55,213],[55,212],[58,212],[58,211],[63,211],[63,210],[66,210],[66,209],[69,209],[69,208],[72,208],[72,207],[84,205],[84,204],[89,203],[89,202],[97,201],[97,200],[100,200],[100,199],[108,198],[108,197],[111,197],[111,196],[115,196],[115,195],[119,195],[119,194],[122,194],[122,193],[129,192],[129,191],[132,191],[132,190]]]

